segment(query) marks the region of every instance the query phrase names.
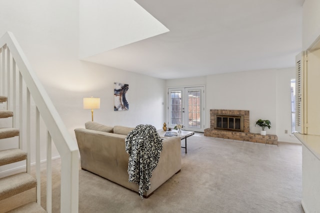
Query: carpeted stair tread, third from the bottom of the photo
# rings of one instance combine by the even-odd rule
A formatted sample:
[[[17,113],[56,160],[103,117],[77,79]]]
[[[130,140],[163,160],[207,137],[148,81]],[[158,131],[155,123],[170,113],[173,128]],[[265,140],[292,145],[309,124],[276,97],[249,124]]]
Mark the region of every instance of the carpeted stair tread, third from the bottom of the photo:
[[[7,149],[0,151],[0,166],[26,159],[26,152],[20,149]]]

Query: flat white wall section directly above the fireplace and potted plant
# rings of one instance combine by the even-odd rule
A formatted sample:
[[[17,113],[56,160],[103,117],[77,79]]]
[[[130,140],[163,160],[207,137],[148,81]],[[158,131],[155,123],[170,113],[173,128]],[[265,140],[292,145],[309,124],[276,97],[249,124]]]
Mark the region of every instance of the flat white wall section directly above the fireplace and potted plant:
[[[275,72],[257,70],[208,76],[207,112],[210,109],[249,110],[250,132],[259,133],[260,127],[254,127],[255,121],[267,119],[271,122],[267,134],[276,134]]]

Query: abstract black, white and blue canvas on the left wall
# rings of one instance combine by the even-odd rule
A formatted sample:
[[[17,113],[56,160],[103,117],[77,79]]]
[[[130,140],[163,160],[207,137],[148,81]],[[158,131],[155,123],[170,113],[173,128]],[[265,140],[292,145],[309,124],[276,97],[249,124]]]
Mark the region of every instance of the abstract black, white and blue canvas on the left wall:
[[[129,110],[129,103],[126,100],[128,84],[114,82],[114,111]]]

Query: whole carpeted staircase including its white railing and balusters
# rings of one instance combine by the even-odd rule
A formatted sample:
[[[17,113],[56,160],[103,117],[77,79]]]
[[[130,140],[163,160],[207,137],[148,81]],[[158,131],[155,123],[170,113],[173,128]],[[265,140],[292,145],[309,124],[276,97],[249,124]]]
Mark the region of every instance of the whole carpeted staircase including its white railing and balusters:
[[[77,144],[11,32],[0,37],[0,107],[0,213],[52,212],[56,199],[52,198],[52,142],[58,152],[53,157],[61,160],[60,205],[54,207],[61,213],[77,213]],[[35,177],[30,175],[31,161]],[[41,179],[46,211],[39,205]]]

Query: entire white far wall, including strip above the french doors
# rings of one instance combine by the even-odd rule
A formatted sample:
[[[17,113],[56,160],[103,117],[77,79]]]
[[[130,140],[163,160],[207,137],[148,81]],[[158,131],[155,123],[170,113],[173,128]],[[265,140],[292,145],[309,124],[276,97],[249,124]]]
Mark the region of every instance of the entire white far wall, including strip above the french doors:
[[[235,109],[250,111],[250,132],[259,133],[255,127],[259,118],[271,121],[267,134],[276,134],[278,141],[299,143],[284,134],[291,129],[290,80],[295,68],[254,70],[197,78],[166,80],[166,87],[205,85],[206,128],[210,127],[210,109]]]

